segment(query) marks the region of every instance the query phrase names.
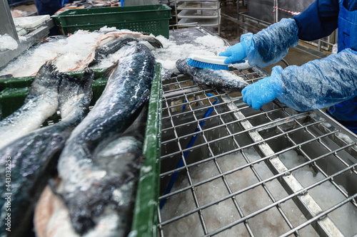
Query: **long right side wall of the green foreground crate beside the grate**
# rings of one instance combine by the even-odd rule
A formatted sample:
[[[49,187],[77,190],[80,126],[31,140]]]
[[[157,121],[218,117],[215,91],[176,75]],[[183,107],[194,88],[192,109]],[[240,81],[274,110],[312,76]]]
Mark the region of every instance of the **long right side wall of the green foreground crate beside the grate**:
[[[146,157],[141,169],[130,237],[157,236],[158,202],[160,190],[161,157],[161,64],[156,65],[156,80],[151,85],[148,120],[143,154]]]

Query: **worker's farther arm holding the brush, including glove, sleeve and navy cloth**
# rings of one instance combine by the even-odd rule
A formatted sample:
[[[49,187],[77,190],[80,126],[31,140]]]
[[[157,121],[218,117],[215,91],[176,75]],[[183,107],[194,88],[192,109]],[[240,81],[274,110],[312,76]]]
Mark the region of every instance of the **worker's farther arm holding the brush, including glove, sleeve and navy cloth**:
[[[355,4],[353,4],[353,2]],[[348,9],[356,7],[357,1],[347,1]],[[313,41],[329,36],[338,23],[338,0],[316,0],[294,19],[281,19],[255,35],[246,33],[241,43],[231,46],[220,56],[227,56],[225,63],[237,63],[248,58],[250,65],[266,67],[277,63],[296,46],[298,39]]]

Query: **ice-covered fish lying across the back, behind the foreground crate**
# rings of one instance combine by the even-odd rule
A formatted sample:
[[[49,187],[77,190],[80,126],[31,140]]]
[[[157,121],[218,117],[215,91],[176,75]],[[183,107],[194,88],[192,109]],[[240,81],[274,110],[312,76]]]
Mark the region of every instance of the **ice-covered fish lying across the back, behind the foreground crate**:
[[[17,78],[36,75],[45,61],[53,62],[59,72],[84,70],[92,61],[91,65],[99,63],[131,41],[147,41],[155,48],[162,48],[160,41],[142,33],[109,31],[108,28],[94,32],[79,30],[69,37],[59,37],[58,41],[51,39],[34,49],[30,48],[24,56],[19,56],[6,65],[0,71],[0,76],[12,75]]]

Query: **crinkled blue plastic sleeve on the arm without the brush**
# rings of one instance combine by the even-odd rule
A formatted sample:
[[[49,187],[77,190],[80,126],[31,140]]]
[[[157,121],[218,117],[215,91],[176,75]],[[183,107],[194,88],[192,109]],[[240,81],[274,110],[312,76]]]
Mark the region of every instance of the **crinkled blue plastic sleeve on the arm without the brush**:
[[[351,48],[300,67],[289,66],[280,72],[283,92],[277,98],[298,111],[336,105],[357,95],[356,68],[357,52]]]

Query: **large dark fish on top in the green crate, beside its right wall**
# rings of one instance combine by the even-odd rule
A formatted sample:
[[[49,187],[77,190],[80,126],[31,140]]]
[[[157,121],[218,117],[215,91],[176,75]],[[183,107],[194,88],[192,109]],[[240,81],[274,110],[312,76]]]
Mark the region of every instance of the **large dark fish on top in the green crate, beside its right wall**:
[[[96,147],[117,137],[134,122],[149,97],[154,78],[154,55],[137,43],[127,49],[111,73],[106,88],[89,115],[76,127],[59,158],[57,189],[69,209],[75,231],[84,234],[96,225],[106,209],[102,200],[121,184],[120,176],[101,167],[94,159]]]

